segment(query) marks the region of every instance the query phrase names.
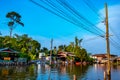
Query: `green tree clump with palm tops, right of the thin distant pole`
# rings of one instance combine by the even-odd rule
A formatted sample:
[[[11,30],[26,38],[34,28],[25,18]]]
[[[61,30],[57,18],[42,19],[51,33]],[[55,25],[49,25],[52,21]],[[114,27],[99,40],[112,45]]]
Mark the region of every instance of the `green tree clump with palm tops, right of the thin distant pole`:
[[[59,45],[58,49],[56,47],[54,47],[54,49],[52,50],[52,55],[56,55],[59,52],[71,52],[73,55],[75,55],[74,57],[71,56],[67,56],[67,60],[74,60],[75,62],[93,62],[93,59],[90,58],[90,53],[88,53],[86,51],[86,49],[81,47],[81,42],[82,39],[78,39],[77,37],[75,37],[75,42],[70,42],[70,44],[67,45]],[[43,48],[45,50],[45,53],[47,52],[47,54],[49,54],[48,49]],[[43,51],[44,52],[44,51]]]

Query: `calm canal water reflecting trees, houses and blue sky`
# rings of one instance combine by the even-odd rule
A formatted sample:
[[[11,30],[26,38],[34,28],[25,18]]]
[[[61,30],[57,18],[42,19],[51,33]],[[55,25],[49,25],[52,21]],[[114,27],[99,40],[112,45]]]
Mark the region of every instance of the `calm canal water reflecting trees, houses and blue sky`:
[[[104,80],[106,65],[0,66],[0,80]],[[120,65],[111,67],[111,80],[120,80]]]

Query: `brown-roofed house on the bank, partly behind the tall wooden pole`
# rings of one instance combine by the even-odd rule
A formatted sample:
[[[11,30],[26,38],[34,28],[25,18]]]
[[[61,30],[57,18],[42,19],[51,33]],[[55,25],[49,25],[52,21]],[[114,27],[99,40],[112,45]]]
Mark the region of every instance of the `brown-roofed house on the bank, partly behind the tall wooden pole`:
[[[91,56],[93,59],[95,59],[95,62],[97,63],[106,63],[108,58],[107,54],[94,54]],[[117,57],[117,55],[110,55],[110,60],[114,60]]]

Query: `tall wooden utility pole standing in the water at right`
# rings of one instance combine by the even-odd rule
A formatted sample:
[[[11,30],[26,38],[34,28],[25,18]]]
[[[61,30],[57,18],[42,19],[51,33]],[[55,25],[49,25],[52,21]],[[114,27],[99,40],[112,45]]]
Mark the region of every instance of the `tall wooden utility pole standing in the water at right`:
[[[106,23],[106,48],[107,48],[107,58],[108,58],[107,76],[108,76],[108,78],[110,78],[110,76],[111,76],[111,65],[110,65],[110,45],[109,45],[109,25],[108,25],[107,3],[105,3],[105,14],[106,14],[106,19],[105,19],[105,23]]]

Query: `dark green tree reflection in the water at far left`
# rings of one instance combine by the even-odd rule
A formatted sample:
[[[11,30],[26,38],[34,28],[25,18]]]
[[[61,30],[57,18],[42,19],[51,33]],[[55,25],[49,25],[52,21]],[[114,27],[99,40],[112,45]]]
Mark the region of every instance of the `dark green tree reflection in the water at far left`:
[[[0,67],[0,80],[35,80],[37,72],[36,66],[3,66]]]

